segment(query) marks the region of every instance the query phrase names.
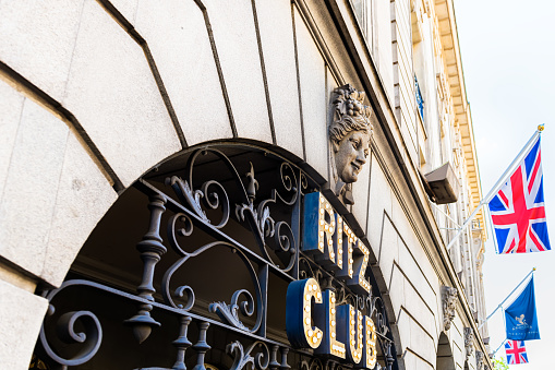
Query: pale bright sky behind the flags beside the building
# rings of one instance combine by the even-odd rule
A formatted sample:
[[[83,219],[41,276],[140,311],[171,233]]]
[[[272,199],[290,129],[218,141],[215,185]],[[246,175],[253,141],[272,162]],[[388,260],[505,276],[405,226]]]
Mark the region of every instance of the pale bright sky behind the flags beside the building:
[[[496,255],[490,237],[484,282],[490,313],[538,267],[542,339],[527,342],[530,363],[510,369],[555,369],[555,2],[455,0],[455,11],[484,195],[538,124],[545,123],[542,160],[554,251]],[[505,338],[500,311],[490,320],[490,336],[492,350]]]

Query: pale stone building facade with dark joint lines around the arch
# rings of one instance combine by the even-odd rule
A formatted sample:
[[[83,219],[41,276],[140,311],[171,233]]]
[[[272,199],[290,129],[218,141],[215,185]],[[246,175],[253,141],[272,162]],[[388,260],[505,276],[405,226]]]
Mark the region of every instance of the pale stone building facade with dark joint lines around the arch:
[[[492,368],[483,215],[446,248],[482,195],[451,0],[0,1],[0,108],[1,368],[350,367],[288,339],[286,290],[311,278],[374,319],[376,369]],[[367,139],[336,160],[330,123],[361,111]],[[352,231],[370,290],[310,251],[313,192]],[[233,253],[168,293],[197,229]],[[243,278],[224,273],[231,254],[250,273],[234,307],[216,294]]]

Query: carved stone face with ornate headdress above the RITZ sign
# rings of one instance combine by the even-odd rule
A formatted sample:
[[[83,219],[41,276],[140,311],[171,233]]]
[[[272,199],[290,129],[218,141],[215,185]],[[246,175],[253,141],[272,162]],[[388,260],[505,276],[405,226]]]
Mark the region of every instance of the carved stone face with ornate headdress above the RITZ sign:
[[[358,92],[350,84],[333,93],[334,118],[328,127],[335,182],[333,190],[345,204],[354,203],[352,183],[359,179],[370,154],[372,110],[363,105],[364,96],[364,93]]]

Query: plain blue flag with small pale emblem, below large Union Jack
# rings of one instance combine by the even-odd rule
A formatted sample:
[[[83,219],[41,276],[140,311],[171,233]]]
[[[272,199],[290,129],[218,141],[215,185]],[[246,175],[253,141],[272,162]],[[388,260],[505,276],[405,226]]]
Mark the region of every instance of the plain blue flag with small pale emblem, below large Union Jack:
[[[533,275],[520,296],[505,310],[505,330],[507,339],[540,339]]]

